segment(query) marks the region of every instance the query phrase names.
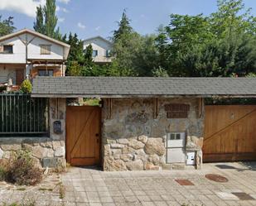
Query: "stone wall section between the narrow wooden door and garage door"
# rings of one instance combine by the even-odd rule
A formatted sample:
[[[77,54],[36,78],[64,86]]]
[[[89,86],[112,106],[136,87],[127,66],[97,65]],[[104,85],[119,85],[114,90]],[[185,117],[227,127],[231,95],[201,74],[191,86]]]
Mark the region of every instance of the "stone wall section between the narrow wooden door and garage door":
[[[171,169],[167,164],[167,133],[186,132],[185,151],[196,152],[196,168],[202,164],[204,108],[199,98],[104,99],[103,108],[103,165],[104,170],[160,170]],[[190,105],[187,118],[167,118],[165,105]],[[202,103],[202,102],[201,102]],[[112,106],[110,106],[112,104]],[[110,109],[111,108],[111,109]],[[185,167],[185,162],[181,166]]]

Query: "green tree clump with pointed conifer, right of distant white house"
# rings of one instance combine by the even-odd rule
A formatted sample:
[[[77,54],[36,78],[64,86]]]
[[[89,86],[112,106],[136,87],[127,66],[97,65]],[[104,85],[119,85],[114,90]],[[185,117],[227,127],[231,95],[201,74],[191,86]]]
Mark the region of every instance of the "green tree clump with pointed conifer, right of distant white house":
[[[141,36],[133,31],[124,11],[118,30],[114,31],[114,60],[109,66],[112,74],[151,75],[152,69],[158,67],[155,38],[156,36]]]

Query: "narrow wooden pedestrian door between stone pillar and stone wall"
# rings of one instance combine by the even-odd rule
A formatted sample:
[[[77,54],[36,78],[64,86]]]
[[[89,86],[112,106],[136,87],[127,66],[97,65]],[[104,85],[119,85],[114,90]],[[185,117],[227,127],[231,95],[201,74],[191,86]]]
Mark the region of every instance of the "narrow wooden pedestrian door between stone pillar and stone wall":
[[[100,108],[67,107],[66,158],[70,165],[99,165]]]

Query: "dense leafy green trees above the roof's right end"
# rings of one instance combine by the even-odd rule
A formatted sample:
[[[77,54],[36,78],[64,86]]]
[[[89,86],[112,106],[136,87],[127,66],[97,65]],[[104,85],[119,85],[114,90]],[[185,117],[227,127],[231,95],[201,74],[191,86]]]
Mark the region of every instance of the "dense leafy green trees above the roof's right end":
[[[159,65],[171,76],[254,72],[255,25],[243,0],[219,0],[209,17],[171,14],[156,39]]]

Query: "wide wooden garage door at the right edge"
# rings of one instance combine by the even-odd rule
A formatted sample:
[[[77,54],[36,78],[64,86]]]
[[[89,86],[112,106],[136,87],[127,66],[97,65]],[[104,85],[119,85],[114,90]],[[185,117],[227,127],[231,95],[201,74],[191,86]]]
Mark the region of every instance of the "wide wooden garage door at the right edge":
[[[256,160],[256,106],[205,106],[204,162]]]

